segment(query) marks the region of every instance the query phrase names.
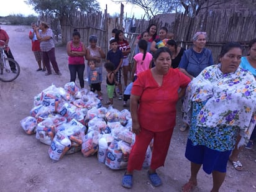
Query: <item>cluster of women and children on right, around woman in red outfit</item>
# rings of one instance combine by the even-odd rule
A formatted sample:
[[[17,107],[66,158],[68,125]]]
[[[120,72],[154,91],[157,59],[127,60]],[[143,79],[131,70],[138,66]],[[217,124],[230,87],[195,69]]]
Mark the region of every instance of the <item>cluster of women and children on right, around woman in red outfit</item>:
[[[157,168],[165,163],[175,127],[176,103],[183,98],[185,125],[181,130],[189,128],[185,157],[191,162],[191,176],[182,191],[192,191],[198,185],[197,175],[202,165],[206,173],[213,175],[211,191],[219,191],[227,162],[239,166],[237,160],[231,159],[232,150],[251,146],[254,139],[256,39],[249,43],[247,57],[242,57],[239,43],[223,45],[214,65],[211,50],[205,48],[206,32],[196,32],[193,47],[184,50],[167,37],[165,27],[152,42],[149,31],[143,32],[137,42],[139,61],[139,55],[134,56],[136,80],[130,95],[130,112],[136,136],[122,186],[132,188],[134,170],[141,170],[152,140],[152,161],[147,175],[153,186],[162,185]],[[157,31],[156,26],[153,31]],[[145,44],[150,45],[150,50]],[[153,55],[151,61],[146,59],[148,52]]]

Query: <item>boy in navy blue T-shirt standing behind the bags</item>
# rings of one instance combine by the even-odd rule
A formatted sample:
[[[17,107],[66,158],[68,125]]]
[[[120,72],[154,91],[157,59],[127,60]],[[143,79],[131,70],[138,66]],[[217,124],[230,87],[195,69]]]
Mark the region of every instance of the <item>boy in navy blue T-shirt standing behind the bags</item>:
[[[111,50],[107,52],[107,62],[111,62],[114,64],[114,73],[115,73],[115,79],[118,82],[118,88],[120,91],[119,94],[119,100],[122,100],[122,85],[121,85],[121,77],[122,77],[122,51],[119,50],[117,45],[117,40],[112,39],[110,41],[111,44]]]

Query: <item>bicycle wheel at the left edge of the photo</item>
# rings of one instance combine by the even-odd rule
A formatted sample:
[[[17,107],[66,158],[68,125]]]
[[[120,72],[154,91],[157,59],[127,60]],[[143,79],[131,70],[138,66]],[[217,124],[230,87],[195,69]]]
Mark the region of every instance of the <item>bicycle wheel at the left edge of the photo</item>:
[[[21,68],[19,67],[19,64],[16,62],[16,60],[13,60],[12,58],[4,58],[5,63],[1,63],[1,73],[0,73],[0,80],[4,82],[11,82],[15,80],[19,73],[21,72]],[[16,66],[16,73],[12,72],[10,70],[9,63],[12,62]]]

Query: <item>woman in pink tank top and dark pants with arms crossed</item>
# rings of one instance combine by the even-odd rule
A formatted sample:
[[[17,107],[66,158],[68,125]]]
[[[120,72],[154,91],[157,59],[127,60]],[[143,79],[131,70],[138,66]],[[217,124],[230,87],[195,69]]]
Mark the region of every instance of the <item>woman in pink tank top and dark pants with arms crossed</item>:
[[[80,32],[74,30],[73,39],[66,45],[66,53],[68,53],[68,69],[70,70],[70,82],[76,81],[76,73],[81,88],[85,87],[83,74],[85,71],[85,55],[86,48],[83,42],[80,42]]]

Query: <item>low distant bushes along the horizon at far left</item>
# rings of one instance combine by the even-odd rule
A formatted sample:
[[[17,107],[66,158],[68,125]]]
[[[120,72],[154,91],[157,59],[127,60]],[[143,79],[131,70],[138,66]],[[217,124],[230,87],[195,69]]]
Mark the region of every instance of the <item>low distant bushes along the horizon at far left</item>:
[[[2,17],[10,25],[31,25],[32,22],[37,22],[38,17],[29,15],[25,17],[22,14],[13,14],[6,17]]]

